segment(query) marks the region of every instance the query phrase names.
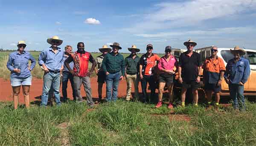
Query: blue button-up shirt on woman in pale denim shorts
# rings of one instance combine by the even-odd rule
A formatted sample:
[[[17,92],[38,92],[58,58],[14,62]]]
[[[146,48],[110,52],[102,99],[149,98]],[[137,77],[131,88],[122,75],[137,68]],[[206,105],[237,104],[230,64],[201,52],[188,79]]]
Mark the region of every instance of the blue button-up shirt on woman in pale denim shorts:
[[[29,60],[31,61],[30,69],[32,70],[35,67],[35,58],[29,52],[23,51],[23,53],[20,54],[18,51],[15,51],[9,54],[6,67],[11,71],[11,77],[26,78],[31,76]],[[19,63],[20,73],[13,72],[13,69],[16,69]]]

